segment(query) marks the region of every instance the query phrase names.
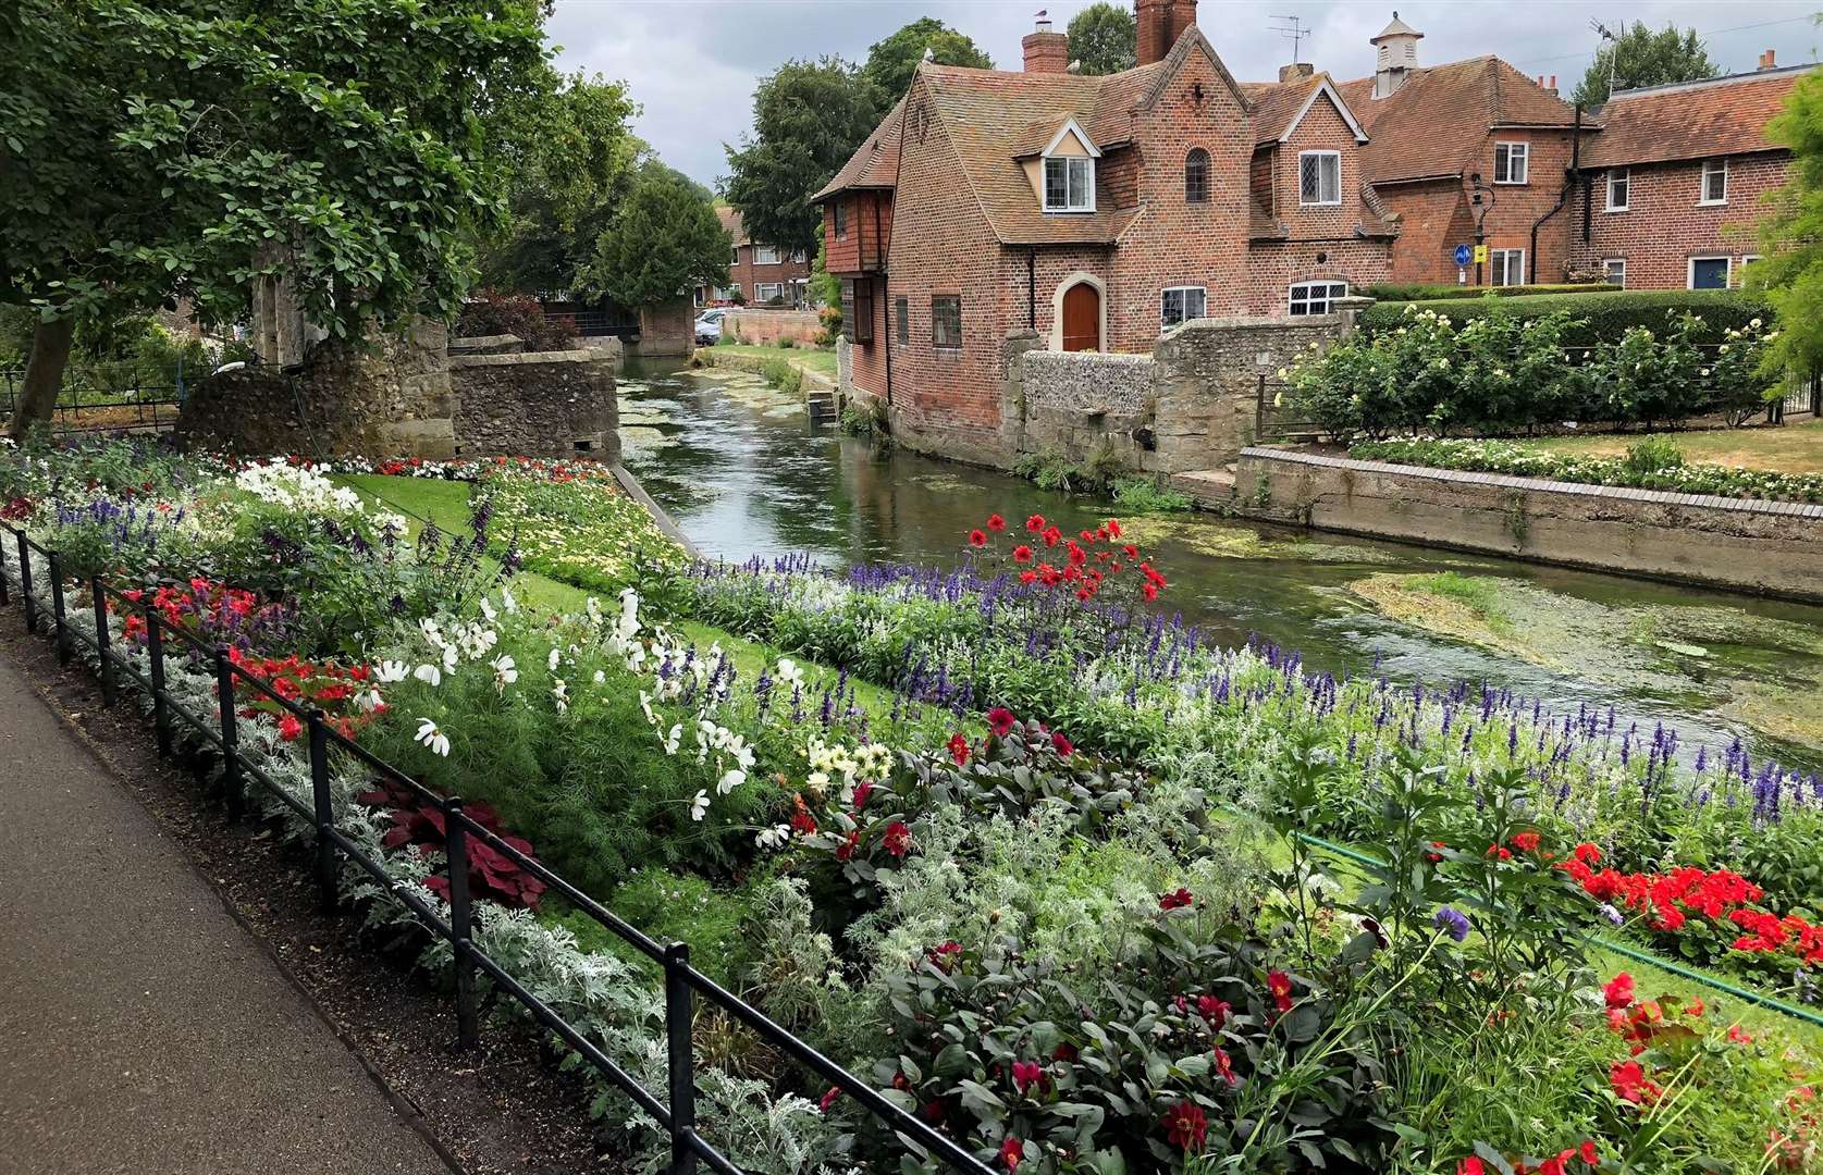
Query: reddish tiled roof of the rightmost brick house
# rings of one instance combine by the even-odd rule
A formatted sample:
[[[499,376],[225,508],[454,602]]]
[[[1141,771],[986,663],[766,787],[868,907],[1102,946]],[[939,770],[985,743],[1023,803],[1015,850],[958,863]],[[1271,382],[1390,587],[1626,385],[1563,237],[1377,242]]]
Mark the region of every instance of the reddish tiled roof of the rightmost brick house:
[[[1808,69],[1812,66],[1621,91],[1597,109],[1604,129],[1588,146],[1584,166],[1777,149],[1766,140],[1766,120],[1785,107],[1785,95]]]

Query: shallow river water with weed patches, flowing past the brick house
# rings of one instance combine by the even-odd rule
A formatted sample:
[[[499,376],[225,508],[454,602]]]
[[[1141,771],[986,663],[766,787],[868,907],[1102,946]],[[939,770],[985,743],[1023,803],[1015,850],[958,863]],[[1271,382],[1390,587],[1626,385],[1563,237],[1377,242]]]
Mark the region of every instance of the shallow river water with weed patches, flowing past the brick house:
[[[953,565],[999,512],[1074,532],[1099,499],[813,430],[797,395],[742,372],[633,370],[627,466],[709,556]],[[1170,576],[1167,603],[1227,643],[1298,649],[1338,674],[1495,681],[1546,709],[1617,705],[1683,745],[1741,736],[1756,758],[1823,767],[1823,608],[1404,543],[1156,514],[1125,519]],[[1455,572],[1488,608],[1413,590]]]

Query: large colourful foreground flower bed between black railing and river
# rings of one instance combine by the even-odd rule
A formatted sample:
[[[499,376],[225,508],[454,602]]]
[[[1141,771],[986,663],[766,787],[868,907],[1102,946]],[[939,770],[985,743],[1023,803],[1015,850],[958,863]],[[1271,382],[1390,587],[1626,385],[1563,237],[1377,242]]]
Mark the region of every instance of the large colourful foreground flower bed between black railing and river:
[[[496,475],[529,477],[485,474],[483,486]],[[527,494],[534,514],[594,517],[545,488]],[[233,548],[241,517],[275,505],[221,475],[173,479],[166,496],[210,557]],[[498,494],[483,501],[505,514]],[[310,497],[290,512],[304,532],[357,526],[343,508]],[[67,530],[42,505],[27,521],[49,541]],[[1777,909],[1788,927],[1794,911],[1770,894],[1803,885],[1790,880],[1803,865],[1768,880],[1754,854],[1807,860],[1807,782],[1766,769],[1756,785],[1737,752],[1684,771],[1674,736],[1491,689],[1334,681],[1280,650],[1210,649],[1134,610],[1170,585],[1117,525],[1066,539],[1034,521],[984,523],[959,572],[831,577],[780,563],[676,579],[629,557],[611,579],[644,576],[649,590],[574,616],[458,579],[425,596],[430,607],[337,628],[354,661],[303,647],[321,628],[310,623],[248,636],[237,656],[341,707],[381,758],[489,805],[503,833],[636,925],[689,940],[724,984],[995,1170],[1757,1170],[1768,1139],[1781,1160],[1810,1162],[1816,1124],[1787,1108],[1810,1058],[1765,1035],[1743,1047],[1721,1027],[1688,1057],[1664,1051],[1670,1035],[1632,1053],[1643,1040],[1602,1027],[1617,995],[1575,935],[1595,896],[1544,858],[1588,829],[1608,856],[1566,860],[1591,882],[1610,860],[1635,873],[1701,860],[1705,884],[1666,894],[1622,880],[1617,893],[1637,887],[1653,911],[1661,896],[1695,904],[1703,920],[1715,896],[1723,920]],[[448,543],[472,550],[476,537],[447,536],[428,563],[399,545],[396,577],[428,577]],[[164,543],[155,556],[175,557]],[[160,610],[217,623],[241,616],[239,601],[308,618],[339,599],[324,576],[343,557],[306,548],[270,587],[204,579]],[[738,661],[684,638],[675,614],[844,672]],[[140,659],[126,619],[109,623]],[[173,658],[171,674],[193,709],[211,709],[210,667]],[[860,676],[886,687],[881,701],[857,696]],[[239,721],[263,769],[308,794],[283,716],[248,707]],[[341,827],[439,907],[428,812],[354,763],[334,767]],[[1701,791],[1714,800],[1694,803]],[[1373,843],[1380,863],[1342,885],[1296,836],[1307,829]],[[1715,893],[1734,885],[1725,865],[1765,893]],[[470,880],[489,898],[481,947],[664,1088],[645,966],[578,931],[501,860],[472,860]],[[345,882],[374,922],[405,920],[363,876]],[[1766,924],[1737,925],[1772,940]],[[871,1115],[735,1024],[706,1011],[696,1035],[713,1062],[700,1128],[746,1168],[901,1168]],[[644,1115],[607,1093],[598,1109],[629,1126],[633,1166],[664,1164]]]

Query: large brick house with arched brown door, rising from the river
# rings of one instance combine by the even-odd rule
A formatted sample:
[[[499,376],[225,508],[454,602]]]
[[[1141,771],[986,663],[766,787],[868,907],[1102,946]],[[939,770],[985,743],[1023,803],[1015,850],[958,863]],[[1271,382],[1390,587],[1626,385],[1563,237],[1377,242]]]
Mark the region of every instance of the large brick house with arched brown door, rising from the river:
[[[1008,333],[1150,352],[1178,322],[1325,313],[1385,281],[1396,226],[1334,82],[1241,86],[1194,0],[1138,0],[1138,66],[1068,69],[1041,20],[1025,69],[919,66],[817,193],[853,384],[902,435],[995,459]]]

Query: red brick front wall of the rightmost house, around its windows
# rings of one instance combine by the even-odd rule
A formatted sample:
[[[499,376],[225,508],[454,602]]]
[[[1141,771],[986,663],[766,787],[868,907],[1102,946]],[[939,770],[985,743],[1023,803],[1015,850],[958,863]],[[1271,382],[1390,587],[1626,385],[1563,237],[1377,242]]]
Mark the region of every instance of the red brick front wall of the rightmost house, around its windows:
[[[1630,169],[1626,211],[1604,211],[1606,175],[1590,175],[1586,188],[1590,239],[1582,240],[1584,189],[1566,209],[1571,213],[1577,264],[1595,270],[1610,257],[1626,259],[1632,290],[1684,290],[1692,257],[1730,257],[1732,281],[1739,284],[1743,255],[1759,253],[1750,226],[1765,215],[1763,199],[1787,180],[1790,155],[1735,155],[1728,158],[1728,202],[1697,204],[1701,160],[1648,164]]]

